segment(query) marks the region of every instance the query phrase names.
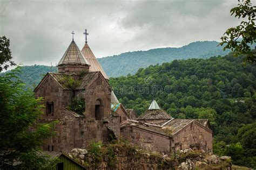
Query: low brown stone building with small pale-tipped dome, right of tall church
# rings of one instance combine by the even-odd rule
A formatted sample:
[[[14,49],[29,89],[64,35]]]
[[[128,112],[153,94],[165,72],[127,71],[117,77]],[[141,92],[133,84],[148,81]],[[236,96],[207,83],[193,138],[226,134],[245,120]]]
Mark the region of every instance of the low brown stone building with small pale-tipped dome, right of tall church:
[[[121,134],[147,151],[175,153],[192,148],[212,153],[213,131],[206,119],[174,119],[156,101],[137,118],[121,124]]]

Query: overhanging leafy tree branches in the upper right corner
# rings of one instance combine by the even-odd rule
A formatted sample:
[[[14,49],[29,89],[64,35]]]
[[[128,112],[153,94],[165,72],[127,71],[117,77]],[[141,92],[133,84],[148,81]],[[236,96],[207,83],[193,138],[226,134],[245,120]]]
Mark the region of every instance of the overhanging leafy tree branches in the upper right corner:
[[[230,10],[231,16],[235,15],[238,18],[245,18],[237,27],[227,29],[224,36],[221,37],[219,45],[231,49],[234,56],[245,54],[245,61],[255,62],[256,52],[251,50],[249,44],[256,42],[256,8],[252,5],[250,0],[238,0],[237,7]],[[240,39],[241,38],[241,39]]]

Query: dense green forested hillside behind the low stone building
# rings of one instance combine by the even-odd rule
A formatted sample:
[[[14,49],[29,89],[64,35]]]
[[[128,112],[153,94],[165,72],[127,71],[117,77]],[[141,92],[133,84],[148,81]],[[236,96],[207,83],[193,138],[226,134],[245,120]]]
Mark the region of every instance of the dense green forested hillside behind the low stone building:
[[[256,65],[232,54],[174,60],[111,78],[120,102],[142,114],[155,99],[174,118],[209,119],[214,152],[256,166]]]

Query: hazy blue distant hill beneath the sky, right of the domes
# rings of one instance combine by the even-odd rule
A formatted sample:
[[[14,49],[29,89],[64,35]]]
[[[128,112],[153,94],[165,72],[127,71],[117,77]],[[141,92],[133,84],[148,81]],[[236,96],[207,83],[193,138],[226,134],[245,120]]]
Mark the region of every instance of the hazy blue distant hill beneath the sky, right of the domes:
[[[196,41],[180,48],[156,48],[148,51],[126,52],[119,55],[99,58],[109,77],[118,77],[127,74],[135,74],[139,68],[150,65],[170,62],[175,59],[209,58],[210,56],[226,55],[230,51],[223,51],[217,41]]]

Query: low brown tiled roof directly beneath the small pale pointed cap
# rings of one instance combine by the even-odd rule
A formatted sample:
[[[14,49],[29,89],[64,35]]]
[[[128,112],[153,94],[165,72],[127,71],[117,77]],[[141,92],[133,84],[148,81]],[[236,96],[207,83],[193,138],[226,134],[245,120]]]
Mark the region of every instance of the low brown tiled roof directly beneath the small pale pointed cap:
[[[140,115],[137,120],[157,120],[157,119],[171,119],[172,117],[164,110],[147,110]]]

